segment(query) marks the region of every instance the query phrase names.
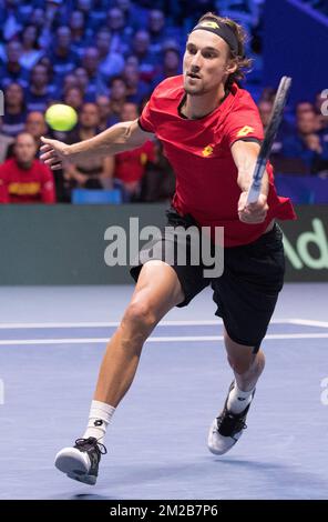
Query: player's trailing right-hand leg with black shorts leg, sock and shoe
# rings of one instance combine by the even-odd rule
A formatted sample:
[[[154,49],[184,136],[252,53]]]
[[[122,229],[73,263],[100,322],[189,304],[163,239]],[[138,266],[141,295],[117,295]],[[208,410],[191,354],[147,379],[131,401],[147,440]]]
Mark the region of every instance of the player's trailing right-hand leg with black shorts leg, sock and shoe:
[[[255,385],[265,365],[259,347],[283,288],[284,270],[283,234],[275,225],[253,243],[225,249],[225,271],[212,282],[216,314],[225,324],[225,348],[235,374],[224,409],[209,430],[213,453],[226,453],[246,428]]]

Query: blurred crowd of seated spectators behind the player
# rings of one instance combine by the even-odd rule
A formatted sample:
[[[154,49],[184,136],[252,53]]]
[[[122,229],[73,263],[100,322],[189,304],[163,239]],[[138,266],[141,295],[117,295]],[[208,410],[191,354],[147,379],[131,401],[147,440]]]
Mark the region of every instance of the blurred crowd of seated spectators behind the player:
[[[211,10],[240,21],[250,34],[247,53],[255,58],[255,67],[246,87],[258,92],[263,4],[264,0],[0,0],[0,202],[71,202],[80,189],[115,190],[122,202],[170,200],[174,173],[156,141],[115,158],[65,165],[53,177],[38,160],[40,137],[73,143],[137,118],[154,87],[181,73],[187,33]],[[266,88],[258,100],[264,127],[274,96]],[[319,93],[286,112],[273,153],[278,171],[328,171],[325,101]],[[72,131],[47,127],[44,112],[55,102],[78,111]]]

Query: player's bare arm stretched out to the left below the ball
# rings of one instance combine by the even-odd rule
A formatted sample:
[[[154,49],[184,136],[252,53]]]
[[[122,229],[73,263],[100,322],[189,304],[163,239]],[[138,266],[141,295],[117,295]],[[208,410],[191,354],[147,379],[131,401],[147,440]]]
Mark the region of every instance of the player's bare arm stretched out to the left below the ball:
[[[68,145],[62,141],[41,138],[43,145],[40,159],[52,170],[61,169],[63,161],[75,162],[84,158],[105,157],[117,154],[126,150],[136,149],[152,137],[152,133],[141,129],[139,121],[124,121],[91,138]]]

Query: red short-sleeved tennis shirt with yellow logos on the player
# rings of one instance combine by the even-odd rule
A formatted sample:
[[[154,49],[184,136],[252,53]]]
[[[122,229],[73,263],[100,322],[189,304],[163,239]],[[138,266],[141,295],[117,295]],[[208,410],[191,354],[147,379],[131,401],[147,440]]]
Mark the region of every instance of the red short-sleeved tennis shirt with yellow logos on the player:
[[[226,247],[247,244],[259,238],[274,219],[295,219],[290,200],[277,195],[268,163],[269,210],[259,224],[238,218],[240,188],[230,147],[237,140],[263,140],[259,113],[250,94],[233,84],[229,94],[211,114],[188,120],[180,114],[184,100],[183,77],[160,83],[140,118],[140,126],[163,142],[176,188],[173,207],[189,213],[202,227],[224,227]],[[214,237],[214,234],[213,234]]]

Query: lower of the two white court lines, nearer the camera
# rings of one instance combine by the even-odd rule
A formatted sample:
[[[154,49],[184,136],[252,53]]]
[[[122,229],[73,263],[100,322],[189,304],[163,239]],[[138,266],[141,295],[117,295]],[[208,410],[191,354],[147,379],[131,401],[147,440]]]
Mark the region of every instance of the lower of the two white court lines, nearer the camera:
[[[265,340],[275,339],[328,339],[328,333],[271,333],[266,335]],[[95,339],[10,339],[0,341],[0,345],[18,345],[18,344],[95,344],[106,343],[107,338]],[[193,342],[193,341],[223,341],[223,335],[180,335],[180,337],[161,337],[148,338],[146,342]]]

